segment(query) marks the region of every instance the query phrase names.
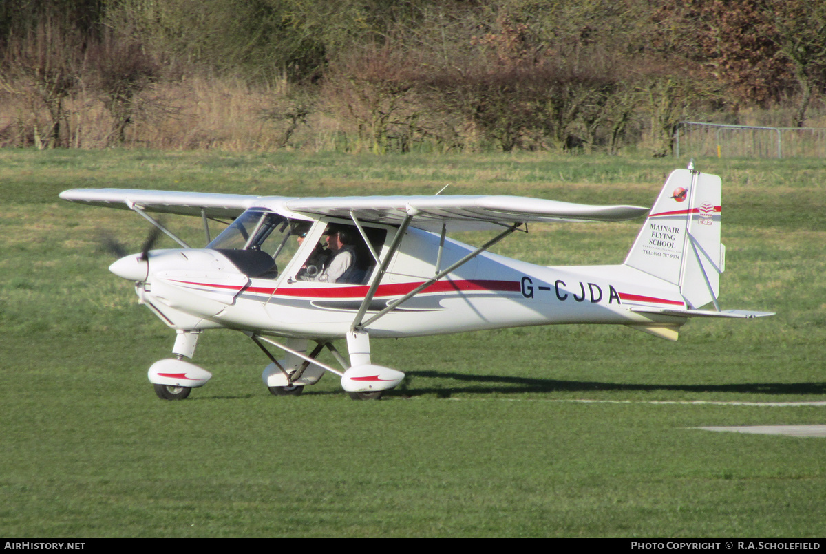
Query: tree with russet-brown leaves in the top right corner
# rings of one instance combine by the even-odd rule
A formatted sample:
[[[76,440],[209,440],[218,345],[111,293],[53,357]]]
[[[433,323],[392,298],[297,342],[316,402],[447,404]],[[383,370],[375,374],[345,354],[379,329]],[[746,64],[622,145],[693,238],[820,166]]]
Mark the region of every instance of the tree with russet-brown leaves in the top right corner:
[[[770,107],[795,96],[793,123],[804,125],[810,103],[826,89],[824,2],[660,3],[652,18],[660,31],[654,34],[657,54],[709,69],[729,92],[729,105]],[[670,51],[657,48],[669,40]]]

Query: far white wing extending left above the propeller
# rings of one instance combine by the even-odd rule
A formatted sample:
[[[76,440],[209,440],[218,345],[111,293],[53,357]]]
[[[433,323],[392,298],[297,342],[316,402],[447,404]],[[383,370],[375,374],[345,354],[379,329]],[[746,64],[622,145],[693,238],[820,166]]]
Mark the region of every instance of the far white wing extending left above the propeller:
[[[89,206],[106,206],[130,210],[140,206],[145,211],[167,214],[197,215],[202,211],[207,217],[237,217],[261,197],[244,194],[218,194],[213,192],[141,191],[129,188],[75,188],[60,193],[70,202]]]

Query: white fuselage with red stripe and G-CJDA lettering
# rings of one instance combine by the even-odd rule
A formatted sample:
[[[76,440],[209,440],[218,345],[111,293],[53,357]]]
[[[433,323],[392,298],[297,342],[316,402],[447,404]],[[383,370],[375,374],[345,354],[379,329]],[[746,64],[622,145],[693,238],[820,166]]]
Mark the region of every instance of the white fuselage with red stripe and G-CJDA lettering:
[[[249,277],[239,267],[239,255],[233,261],[216,249],[154,251],[138,294],[176,329],[340,338],[353,325],[369,286],[296,278],[312,244],[298,249],[277,276],[265,277]],[[408,230],[368,306],[368,318],[473,250],[445,239],[439,255],[439,244],[438,234]],[[634,312],[629,309],[634,305],[685,303],[676,286],[624,265],[544,267],[483,252],[366,329],[373,337],[411,337],[525,325],[682,322]]]

